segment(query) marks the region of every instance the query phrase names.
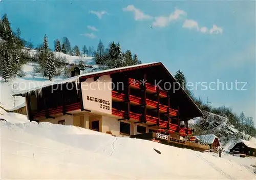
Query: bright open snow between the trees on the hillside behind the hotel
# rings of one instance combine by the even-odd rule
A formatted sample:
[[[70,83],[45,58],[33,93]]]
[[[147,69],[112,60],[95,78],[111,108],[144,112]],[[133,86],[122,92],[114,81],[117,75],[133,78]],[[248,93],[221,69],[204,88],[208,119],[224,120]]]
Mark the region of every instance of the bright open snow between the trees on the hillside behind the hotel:
[[[31,58],[35,57],[37,51],[25,49]],[[70,56],[60,52],[53,52],[56,58],[66,58],[68,64],[76,64],[78,61],[83,61],[88,67],[81,71],[81,73],[87,73],[90,71],[100,70],[100,66],[95,63],[93,57],[81,57],[81,56]],[[25,105],[25,99],[23,97],[15,97],[13,99],[12,94],[17,91],[22,91],[25,89],[30,89],[42,85],[52,83],[53,81],[62,80],[63,75],[55,76],[52,81],[47,77],[42,77],[40,73],[35,73],[33,69],[37,67],[37,62],[28,62],[22,66],[22,71],[24,73],[23,77],[13,78],[12,82],[4,82],[2,77],[0,77],[0,106],[4,107],[6,110],[13,110],[18,107]],[[62,69],[60,69],[62,70]],[[14,86],[13,86],[14,85]],[[12,88],[13,87],[13,88]]]

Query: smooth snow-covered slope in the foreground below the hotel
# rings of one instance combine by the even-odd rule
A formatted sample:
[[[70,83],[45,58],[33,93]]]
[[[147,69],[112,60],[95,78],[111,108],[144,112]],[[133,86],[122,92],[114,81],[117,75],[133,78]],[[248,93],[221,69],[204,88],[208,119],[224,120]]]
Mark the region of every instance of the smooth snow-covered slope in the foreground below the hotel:
[[[219,158],[2,113],[7,120],[0,121],[2,179],[255,179],[250,168],[255,159]]]

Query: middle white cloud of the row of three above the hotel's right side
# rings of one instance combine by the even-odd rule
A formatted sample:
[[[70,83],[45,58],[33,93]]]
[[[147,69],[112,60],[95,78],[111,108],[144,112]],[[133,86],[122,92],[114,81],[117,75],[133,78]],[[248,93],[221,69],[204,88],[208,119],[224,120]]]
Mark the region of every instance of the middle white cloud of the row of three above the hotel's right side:
[[[182,16],[186,16],[186,12],[180,9],[175,9],[173,13],[169,16],[158,16],[155,17],[155,21],[153,22],[153,26],[156,27],[166,27],[170,21],[178,20]]]

